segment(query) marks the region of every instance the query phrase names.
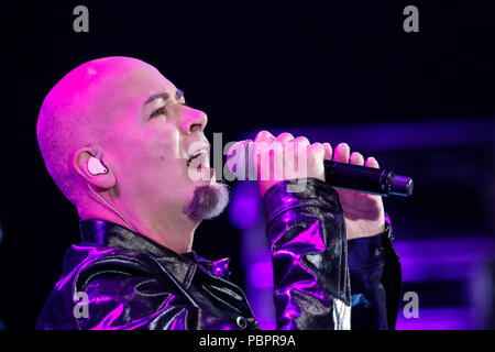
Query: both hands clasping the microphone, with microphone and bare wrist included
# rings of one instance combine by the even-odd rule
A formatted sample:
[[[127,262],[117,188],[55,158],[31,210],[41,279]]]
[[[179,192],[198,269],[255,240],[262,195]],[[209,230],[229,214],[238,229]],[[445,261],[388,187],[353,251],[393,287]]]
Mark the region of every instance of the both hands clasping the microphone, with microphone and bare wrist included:
[[[229,152],[227,165],[234,175],[240,174],[238,165],[229,164],[229,160],[241,150],[245,162],[245,169],[241,169],[241,174],[251,175],[255,170],[262,196],[282,180],[302,177],[318,178],[337,187],[344,211],[348,240],[374,235],[385,229],[381,196],[407,197],[413,193],[411,178],[380,169],[374,157],[364,161],[360,153],[351,154],[345,143],[332,151],[329,143],[310,144],[308,139],[294,138],[290,133],[275,138],[267,131],[260,132],[254,142],[240,143],[242,147],[234,145]],[[287,162],[292,165],[286,165]]]

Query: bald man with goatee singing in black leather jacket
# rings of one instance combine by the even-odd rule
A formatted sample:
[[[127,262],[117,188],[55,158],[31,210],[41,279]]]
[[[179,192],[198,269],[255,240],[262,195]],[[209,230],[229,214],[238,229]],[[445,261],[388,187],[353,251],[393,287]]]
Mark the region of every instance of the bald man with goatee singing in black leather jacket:
[[[52,88],[37,140],[78,211],[81,242],[66,253],[37,329],[258,329],[228,260],[191,250],[201,221],[229,202],[209,165],[206,124],[174,84],[135,58],[85,63]],[[289,133],[262,131],[254,144],[267,146],[258,152],[274,172],[258,185],[277,329],[395,328],[400,264],[382,199],[324,183],[324,158],[378,167],[376,160]],[[289,175],[275,156],[296,147],[307,167]],[[302,177],[305,188],[289,193]]]

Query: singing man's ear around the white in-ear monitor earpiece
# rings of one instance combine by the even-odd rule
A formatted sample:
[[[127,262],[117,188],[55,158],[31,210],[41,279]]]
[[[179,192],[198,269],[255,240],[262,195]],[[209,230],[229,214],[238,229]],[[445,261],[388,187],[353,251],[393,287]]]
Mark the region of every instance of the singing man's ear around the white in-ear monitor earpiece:
[[[88,182],[91,185],[95,185],[102,189],[110,189],[113,186],[116,186],[117,179],[116,176],[109,167],[109,165],[105,164],[103,160],[101,158],[101,163],[105,165],[105,167],[108,169],[108,173],[106,174],[99,174],[99,175],[92,175],[88,169],[88,161],[89,158],[94,156],[97,157],[95,151],[89,147],[85,146],[81,148],[78,148],[73,154],[73,166],[76,169],[76,172],[82,176],[86,182]]]

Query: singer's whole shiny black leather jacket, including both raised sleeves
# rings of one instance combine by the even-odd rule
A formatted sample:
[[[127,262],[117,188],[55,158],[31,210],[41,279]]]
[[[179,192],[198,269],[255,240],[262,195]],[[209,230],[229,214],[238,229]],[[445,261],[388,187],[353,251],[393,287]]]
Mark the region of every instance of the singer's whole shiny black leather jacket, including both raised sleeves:
[[[393,329],[400,264],[389,224],[346,241],[336,190],[309,178],[287,193],[289,183],[264,197],[277,329]],[[258,329],[228,260],[180,255],[103,220],[80,230],[37,329]]]

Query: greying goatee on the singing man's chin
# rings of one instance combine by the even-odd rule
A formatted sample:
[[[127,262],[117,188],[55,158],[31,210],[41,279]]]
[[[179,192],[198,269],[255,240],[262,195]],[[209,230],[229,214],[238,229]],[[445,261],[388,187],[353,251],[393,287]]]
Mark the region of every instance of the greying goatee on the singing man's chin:
[[[194,220],[210,220],[221,215],[228,204],[229,186],[226,184],[199,186],[184,213]]]

